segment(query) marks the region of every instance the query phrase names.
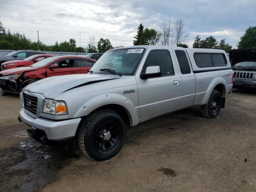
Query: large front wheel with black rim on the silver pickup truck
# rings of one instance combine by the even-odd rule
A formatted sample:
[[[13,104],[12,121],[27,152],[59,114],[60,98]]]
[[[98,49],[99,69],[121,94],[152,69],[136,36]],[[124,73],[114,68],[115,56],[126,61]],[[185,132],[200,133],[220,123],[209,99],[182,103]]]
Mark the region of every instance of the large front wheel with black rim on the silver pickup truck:
[[[112,110],[97,110],[80,124],[78,144],[90,158],[104,161],[114,157],[124,145],[126,124]]]

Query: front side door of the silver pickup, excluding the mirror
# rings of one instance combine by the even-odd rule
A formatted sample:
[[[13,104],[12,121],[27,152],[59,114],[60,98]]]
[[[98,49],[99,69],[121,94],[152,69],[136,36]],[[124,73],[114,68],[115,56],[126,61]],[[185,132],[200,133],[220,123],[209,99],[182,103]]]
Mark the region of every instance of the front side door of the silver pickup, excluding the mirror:
[[[161,113],[180,108],[182,81],[172,50],[147,50],[143,67],[136,73],[140,119],[147,120]],[[174,62],[174,63],[173,63]],[[142,79],[148,66],[160,66],[161,76]]]

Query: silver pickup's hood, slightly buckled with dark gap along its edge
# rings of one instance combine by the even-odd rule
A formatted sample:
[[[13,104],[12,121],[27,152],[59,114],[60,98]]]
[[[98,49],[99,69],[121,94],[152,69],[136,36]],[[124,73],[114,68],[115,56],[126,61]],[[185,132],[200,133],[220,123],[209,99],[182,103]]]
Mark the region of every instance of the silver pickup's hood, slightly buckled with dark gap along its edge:
[[[46,98],[54,99],[60,94],[87,84],[119,79],[117,75],[74,74],[52,76],[36,81],[24,88],[25,91],[43,94]]]

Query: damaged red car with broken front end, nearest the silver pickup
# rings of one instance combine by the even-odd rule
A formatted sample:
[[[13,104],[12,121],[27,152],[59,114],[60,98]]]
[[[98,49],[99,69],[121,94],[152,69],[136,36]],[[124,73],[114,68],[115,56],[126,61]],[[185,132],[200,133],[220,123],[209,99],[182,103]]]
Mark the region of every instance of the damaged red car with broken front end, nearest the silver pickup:
[[[50,57],[29,67],[1,71],[0,88],[5,92],[19,93],[28,84],[46,77],[87,73],[95,62],[94,59],[80,56]]]

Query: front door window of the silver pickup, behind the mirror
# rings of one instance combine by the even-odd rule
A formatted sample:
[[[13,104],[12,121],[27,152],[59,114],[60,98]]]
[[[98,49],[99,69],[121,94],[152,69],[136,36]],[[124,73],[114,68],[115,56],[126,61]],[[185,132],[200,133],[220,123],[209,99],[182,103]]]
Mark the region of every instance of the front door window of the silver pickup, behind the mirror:
[[[161,76],[174,74],[172,59],[168,50],[152,50],[142,68],[142,73],[146,72],[148,66],[160,66]]]

